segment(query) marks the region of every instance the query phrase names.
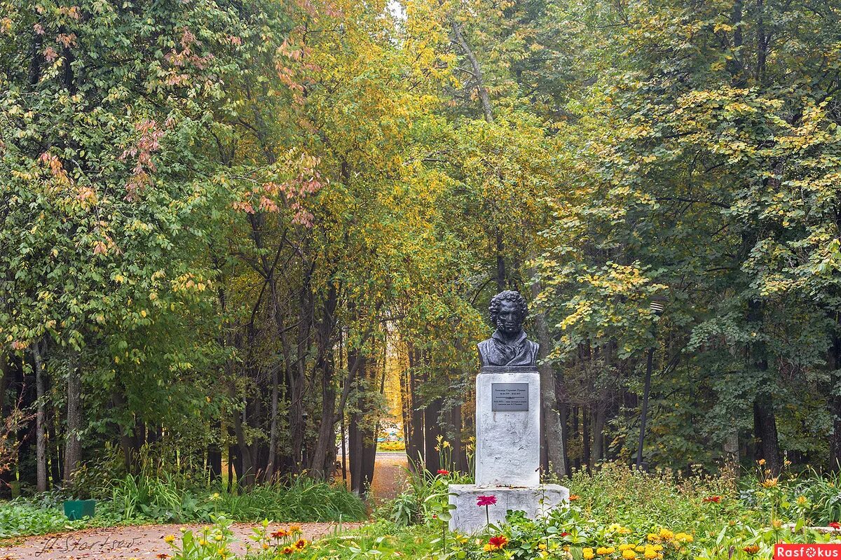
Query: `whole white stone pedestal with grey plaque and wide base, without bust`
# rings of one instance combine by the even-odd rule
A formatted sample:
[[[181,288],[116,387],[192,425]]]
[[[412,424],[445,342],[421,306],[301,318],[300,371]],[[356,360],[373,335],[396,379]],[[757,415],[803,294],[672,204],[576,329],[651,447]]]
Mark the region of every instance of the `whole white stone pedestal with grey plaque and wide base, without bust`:
[[[492,495],[491,523],[508,510],[535,519],[569,500],[569,489],[540,484],[540,374],[534,367],[486,366],[476,377],[476,484],[451,484],[450,530],[487,523],[479,496]],[[454,506],[454,507],[452,507]]]

